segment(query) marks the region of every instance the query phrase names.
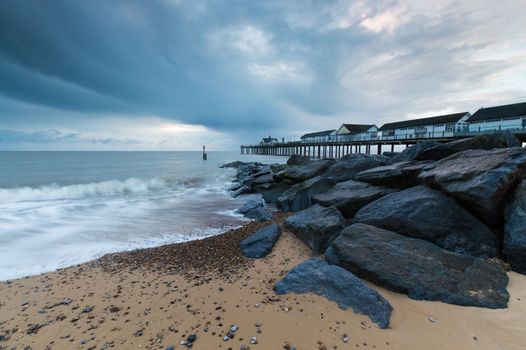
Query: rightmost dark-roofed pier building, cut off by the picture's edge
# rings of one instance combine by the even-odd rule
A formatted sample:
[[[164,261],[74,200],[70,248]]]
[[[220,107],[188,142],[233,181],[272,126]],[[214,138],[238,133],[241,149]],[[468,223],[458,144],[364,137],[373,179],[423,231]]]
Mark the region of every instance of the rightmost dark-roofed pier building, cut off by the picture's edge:
[[[481,108],[468,119],[470,132],[526,128],[526,102]]]

